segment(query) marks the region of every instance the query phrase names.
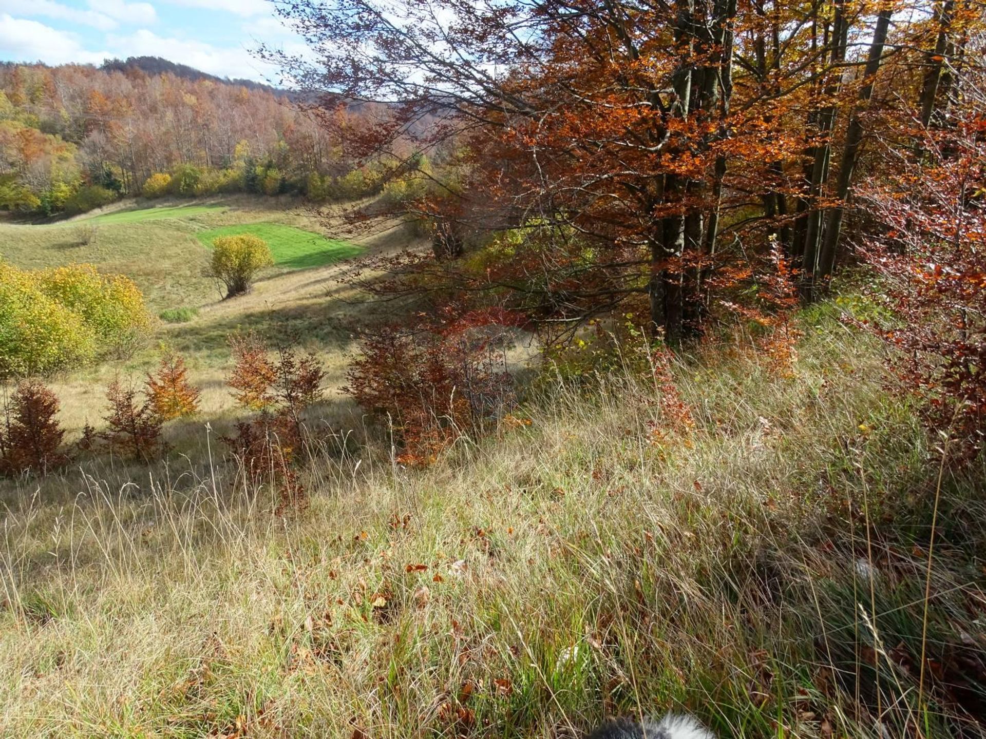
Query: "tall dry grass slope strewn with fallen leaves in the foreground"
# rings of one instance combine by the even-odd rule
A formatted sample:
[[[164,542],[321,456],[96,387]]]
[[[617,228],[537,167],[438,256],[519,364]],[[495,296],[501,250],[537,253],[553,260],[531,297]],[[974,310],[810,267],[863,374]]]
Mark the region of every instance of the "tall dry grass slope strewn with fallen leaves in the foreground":
[[[685,706],[724,737],[879,736],[878,714],[887,736],[976,735],[937,678],[918,705],[902,664],[924,437],[877,348],[817,321],[792,377],[741,343],[682,358],[696,423],[674,434],[647,383],[558,376],[516,414],[529,426],[407,470],[386,430],[330,404],[312,506],[285,519],[201,429],[188,460],[22,481],[0,543],[0,733],[548,739]],[[949,485],[943,660],[982,649],[969,614],[986,610],[986,510],[974,482]]]

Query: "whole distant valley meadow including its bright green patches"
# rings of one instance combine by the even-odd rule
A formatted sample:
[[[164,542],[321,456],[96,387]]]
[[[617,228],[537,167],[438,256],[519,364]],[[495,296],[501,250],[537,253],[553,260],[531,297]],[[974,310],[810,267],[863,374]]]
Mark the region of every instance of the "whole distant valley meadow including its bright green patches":
[[[202,276],[209,244],[219,235],[245,233],[268,241],[275,266],[248,295],[223,301],[215,281]],[[203,389],[203,415],[220,421],[230,417],[233,405],[224,377],[228,338],[237,331],[295,336],[325,362],[329,388],[340,386],[350,341],[345,322],[361,308],[358,296],[334,279],[339,262],[412,240],[400,230],[355,234],[341,214],[315,217],[290,202],[286,207],[246,196],[195,205],[131,204],[46,226],[0,223],[0,255],[8,262],[25,269],[89,262],[127,275],[151,312],[162,317],[148,346],[134,357],[55,378],[70,438],[87,423],[99,424],[106,383],[114,376],[142,381],[163,345],[185,357],[192,381]],[[175,440],[187,448],[181,434]]]

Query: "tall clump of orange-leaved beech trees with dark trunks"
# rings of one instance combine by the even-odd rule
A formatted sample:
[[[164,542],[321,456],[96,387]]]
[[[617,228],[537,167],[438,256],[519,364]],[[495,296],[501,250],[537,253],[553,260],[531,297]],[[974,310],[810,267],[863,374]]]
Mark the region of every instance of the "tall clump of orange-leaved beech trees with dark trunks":
[[[929,30],[946,13],[845,0],[279,7],[319,53],[317,63],[280,60],[321,104],[387,103],[351,137],[355,151],[387,153],[394,173],[413,167],[401,142],[455,161],[428,174],[412,212],[439,234],[455,224],[457,234],[519,235],[481,273],[439,267],[443,241],[390,264],[431,282],[374,290],[495,293],[568,327],[646,303],[670,342],[696,331],[709,278],[741,276],[770,238],[801,270],[806,300],[824,287],[869,111],[878,97],[884,109],[924,104],[928,75],[941,76],[928,67],[942,56]],[[907,20],[891,29],[894,14]]]

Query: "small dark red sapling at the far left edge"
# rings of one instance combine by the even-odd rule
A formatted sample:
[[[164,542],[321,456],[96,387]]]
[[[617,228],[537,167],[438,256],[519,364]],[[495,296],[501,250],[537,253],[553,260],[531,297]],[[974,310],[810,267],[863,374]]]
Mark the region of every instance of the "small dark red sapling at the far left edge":
[[[43,474],[67,460],[58,451],[65,432],[57,414],[58,398],[49,388],[36,379],[18,383],[0,429],[0,473]]]

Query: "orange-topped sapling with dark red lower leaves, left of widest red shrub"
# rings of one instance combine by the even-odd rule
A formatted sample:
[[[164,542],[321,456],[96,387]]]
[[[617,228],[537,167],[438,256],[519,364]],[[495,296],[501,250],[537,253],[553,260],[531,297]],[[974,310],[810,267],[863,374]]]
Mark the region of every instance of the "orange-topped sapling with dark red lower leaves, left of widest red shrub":
[[[255,334],[235,337],[230,346],[235,365],[228,384],[237,402],[256,414],[224,440],[251,480],[266,478],[275,486],[277,515],[302,509],[308,504],[298,475],[307,440],[302,416],[321,398],[325,371],[315,355],[299,356],[286,344],[271,353]]]

